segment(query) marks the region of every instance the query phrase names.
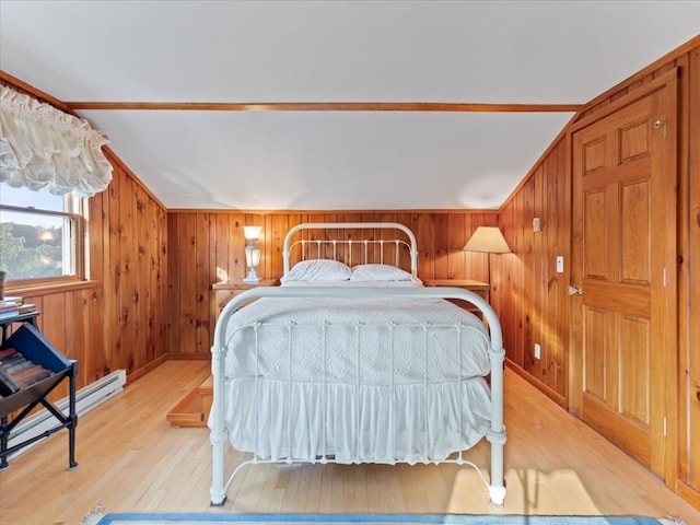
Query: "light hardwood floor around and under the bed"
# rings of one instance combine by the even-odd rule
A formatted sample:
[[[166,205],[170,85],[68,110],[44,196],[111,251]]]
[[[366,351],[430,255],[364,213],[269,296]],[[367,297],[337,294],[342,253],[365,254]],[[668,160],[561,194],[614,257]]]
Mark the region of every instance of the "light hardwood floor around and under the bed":
[[[100,504],[105,512],[642,514],[700,524],[700,512],[511,371],[504,508],[488,503],[476,471],[453,465],[250,466],[225,505],[210,508],[208,430],[165,420],[208,374],[207,362],[168,361],[84,415],[75,470],[66,469],[65,432],[13,458],[0,472],[0,524],[78,525]],[[488,453],[478,445],[469,458],[486,467]],[[242,457],[230,454],[232,464]]]

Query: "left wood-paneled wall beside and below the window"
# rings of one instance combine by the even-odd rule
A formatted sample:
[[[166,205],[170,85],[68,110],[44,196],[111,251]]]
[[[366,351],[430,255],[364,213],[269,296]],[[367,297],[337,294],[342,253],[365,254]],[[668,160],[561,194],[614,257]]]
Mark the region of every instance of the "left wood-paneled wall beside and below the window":
[[[89,199],[89,280],[9,288],[36,304],[42,332],[78,360],[78,388],[120,369],[133,381],[166,354],[167,213],[116,155],[107,158],[113,182]],[[65,385],[51,398],[67,394]]]

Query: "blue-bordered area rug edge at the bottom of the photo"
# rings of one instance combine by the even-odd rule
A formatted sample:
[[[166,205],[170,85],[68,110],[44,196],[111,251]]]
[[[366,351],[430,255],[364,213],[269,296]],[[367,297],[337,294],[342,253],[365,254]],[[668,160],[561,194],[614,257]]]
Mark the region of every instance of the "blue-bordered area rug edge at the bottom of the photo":
[[[643,516],[525,516],[467,514],[106,514],[96,525],[685,525],[682,520]],[[91,525],[91,524],[85,524]]]

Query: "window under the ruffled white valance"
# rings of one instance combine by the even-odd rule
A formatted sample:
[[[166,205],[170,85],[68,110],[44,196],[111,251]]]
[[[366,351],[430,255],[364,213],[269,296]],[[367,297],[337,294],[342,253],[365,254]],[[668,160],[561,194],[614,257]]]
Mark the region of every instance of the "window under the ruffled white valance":
[[[84,277],[81,199],[0,183],[0,269],[9,282]]]

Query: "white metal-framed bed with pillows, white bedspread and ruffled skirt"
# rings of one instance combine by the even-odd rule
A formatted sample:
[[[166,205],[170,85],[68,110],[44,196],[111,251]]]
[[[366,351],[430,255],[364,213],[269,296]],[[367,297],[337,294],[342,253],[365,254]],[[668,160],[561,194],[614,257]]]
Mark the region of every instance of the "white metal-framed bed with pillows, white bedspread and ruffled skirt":
[[[361,238],[325,233],[338,230]],[[300,224],[282,255],[281,285],[237,295],[214,329],[211,504],[252,464],[456,463],[502,505],[505,352],[489,304],[423,287],[398,223]],[[482,439],[488,477],[463,457]],[[252,457],[226,479],[228,446]]]

